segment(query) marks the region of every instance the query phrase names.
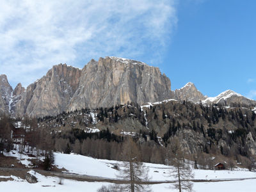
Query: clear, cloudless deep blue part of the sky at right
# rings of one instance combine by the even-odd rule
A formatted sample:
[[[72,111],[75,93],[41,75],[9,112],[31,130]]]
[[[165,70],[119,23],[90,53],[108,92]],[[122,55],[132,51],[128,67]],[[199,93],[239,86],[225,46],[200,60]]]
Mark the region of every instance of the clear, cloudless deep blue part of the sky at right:
[[[172,88],[188,81],[209,96],[227,89],[256,99],[256,1],[180,3],[161,69]]]

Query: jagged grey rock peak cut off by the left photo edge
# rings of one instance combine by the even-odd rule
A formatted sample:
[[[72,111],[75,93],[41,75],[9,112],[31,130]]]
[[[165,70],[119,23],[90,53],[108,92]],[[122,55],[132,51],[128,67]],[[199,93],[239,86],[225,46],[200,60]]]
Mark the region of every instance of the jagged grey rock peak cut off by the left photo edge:
[[[9,113],[12,86],[10,86],[6,75],[0,76],[0,113]]]

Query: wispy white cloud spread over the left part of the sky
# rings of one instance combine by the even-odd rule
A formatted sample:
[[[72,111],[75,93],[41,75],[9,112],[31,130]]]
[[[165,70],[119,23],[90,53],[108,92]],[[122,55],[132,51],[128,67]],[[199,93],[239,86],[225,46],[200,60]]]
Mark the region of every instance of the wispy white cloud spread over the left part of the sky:
[[[58,63],[161,57],[177,24],[176,1],[2,0],[0,73],[27,86]]]

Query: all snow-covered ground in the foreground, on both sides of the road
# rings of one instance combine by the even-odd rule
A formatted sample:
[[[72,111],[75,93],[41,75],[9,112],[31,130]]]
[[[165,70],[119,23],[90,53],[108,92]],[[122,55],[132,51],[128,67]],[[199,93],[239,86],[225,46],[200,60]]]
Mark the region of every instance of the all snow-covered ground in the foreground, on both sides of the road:
[[[6,156],[15,156],[18,159],[20,156],[17,154],[5,154]],[[65,168],[69,173],[78,173],[81,175],[92,175],[98,177],[105,177],[109,179],[116,179],[118,171],[113,169],[115,164],[120,164],[118,161],[108,161],[102,159],[93,159],[92,157],[80,156],[76,154],[60,154],[55,153],[55,164],[58,168]],[[20,162],[29,166],[28,156],[22,156]],[[146,163],[149,168],[150,180],[174,180],[168,177],[168,170],[172,169],[172,166],[165,166],[163,164],[151,164]],[[221,170],[193,170],[195,173],[195,179],[205,180],[218,180],[218,179],[244,179],[256,177],[255,172],[248,172],[246,170],[236,169],[234,171]],[[26,180],[22,180],[15,176],[12,177],[12,181],[0,182],[1,191],[97,191],[102,185],[108,186],[106,182],[81,182],[77,180],[63,179],[59,184],[60,179],[58,177],[45,177],[30,171],[32,175],[38,179],[36,184],[29,184]],[[6,178],[1,176],[0,178]],[[256,179],[246,180],[233,180],[233,181],[221,181],[221,182],[194,182],[194,191],[239,191],[239,192],[255,192],[256,191]],[[171,184],[153,184],[152,191],[177,191],[170,189]]]

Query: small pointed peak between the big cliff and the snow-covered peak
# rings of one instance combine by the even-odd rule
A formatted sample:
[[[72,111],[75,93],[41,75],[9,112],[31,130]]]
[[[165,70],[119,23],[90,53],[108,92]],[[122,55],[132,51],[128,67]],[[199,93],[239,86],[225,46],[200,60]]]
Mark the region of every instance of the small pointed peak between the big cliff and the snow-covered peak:
[[[189,82],[184,87],[179,90],[175,90],[173,92],[173,99],[177,100],[188,100],[191,102],[200,102],[201,100],[205,100],[207,97],[204,96],[201,92],[199,92],[195,84]]]

